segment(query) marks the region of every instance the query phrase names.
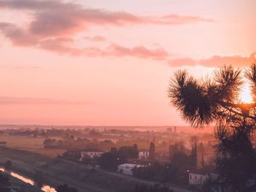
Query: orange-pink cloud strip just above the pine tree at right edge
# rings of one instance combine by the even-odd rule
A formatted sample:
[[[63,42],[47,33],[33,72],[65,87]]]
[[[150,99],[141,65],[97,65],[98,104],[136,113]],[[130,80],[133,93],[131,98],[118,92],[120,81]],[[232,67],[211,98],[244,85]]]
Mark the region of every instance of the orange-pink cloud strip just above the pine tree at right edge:
[[[168,61],[170,66],[208,66],[208,67],[216,67],[216,66],[249,66],[253,62],[256,61],[256,52],[251,53],[249,56],[241,56],[241,55],[230,55],[230,56],[220,56],[214,55],[211,58],[204,58],[200,60],[195,60],[193,58],[177,58]]]

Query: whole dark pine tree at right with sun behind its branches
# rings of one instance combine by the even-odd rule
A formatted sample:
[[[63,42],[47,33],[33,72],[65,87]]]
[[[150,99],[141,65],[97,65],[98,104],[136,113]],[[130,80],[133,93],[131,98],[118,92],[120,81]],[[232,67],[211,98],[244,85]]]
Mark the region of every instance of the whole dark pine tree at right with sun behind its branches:
[[[251,84],[252,104],[238,99],[243,74]],[[238,192],[256,187],[256,155],[251,141],[256,128],[256,64],[244,73],[224,66],[214,72],[212,80],[196,80],[179,70],[170,81],[168,96],[191,126],[216,123],[218,184],[226,191]]]

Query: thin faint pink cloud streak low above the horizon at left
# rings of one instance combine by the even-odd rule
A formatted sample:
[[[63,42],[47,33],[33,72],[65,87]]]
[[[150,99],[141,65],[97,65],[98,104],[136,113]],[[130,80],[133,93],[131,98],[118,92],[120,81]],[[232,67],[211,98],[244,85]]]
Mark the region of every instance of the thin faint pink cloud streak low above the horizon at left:
[[[50,104],[50,105],[88,105],[94,104],[94,101],[67,101],[45,98],[21,98],[0,96],[0,105],[3,104]]]

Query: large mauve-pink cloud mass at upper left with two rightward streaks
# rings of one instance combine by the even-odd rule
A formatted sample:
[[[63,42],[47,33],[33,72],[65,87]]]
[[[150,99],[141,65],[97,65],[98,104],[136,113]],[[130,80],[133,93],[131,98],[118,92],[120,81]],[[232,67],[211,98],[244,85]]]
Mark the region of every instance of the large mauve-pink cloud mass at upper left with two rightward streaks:
[[[164,60],[169,55],[163,48],[143,46],[124,47],[111,44],[106,48],[80,47],[73,39],[75,34],[93,26],[127,25],[182,25],[213,23],[214,20],[187,15],[134,15],[124,11],[93,9],[82,4],[61,0],[0,0],[1,9],[16,9],[31,15],[26,25],[16,26],[10,21],[0,23],[0,32],[14,46],[37,47],[60,54],[85,56],[136,57]],[[29,12],[28,12],[29,11]],[[105,37],[85,37],[91,42],[104,42]]]

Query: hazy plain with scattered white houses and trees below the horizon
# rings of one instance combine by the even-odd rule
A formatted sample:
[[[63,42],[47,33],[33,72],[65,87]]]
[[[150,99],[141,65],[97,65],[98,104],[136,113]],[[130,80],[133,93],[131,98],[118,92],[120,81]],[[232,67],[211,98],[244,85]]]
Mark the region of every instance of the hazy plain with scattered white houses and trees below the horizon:
[[[177,131],[177,127],[165,127],[163,131],[136,131],[136,128],[121,130],[2,127],[0,139],[5,141],[1,148],[3,154],[7,150],[5,147],[11,146],[18,154],[25,150],[31,155],[45,155],[45,158],[52,159],[51,161],[78,164],[87,170],[86,174],[104,171],[104,174],[110,174],[112,177],[112,174],[116,173],[114,176],[117,178],[126,174],[136,178],[133,185],[130,185],[131,189],[136,185],[143,185],[145,180],[152,184],[162,183],[163,186],[175,185],[175,188],[181,188],[182,191],[188,186],[203,186],[203,181],[208,177],[206,175],[214,173],[214,137],[203,132],[193,135],[192,132]],[[2,167],[6,161],[11,161],[12,167],[18,166],[15,165],[16,157],[0,158]],[[41,164],[44,167],[48,163]],[[24,170],[21,169],[20,172],[23,173]],[[194,175],[198,172],[205,173],[197,176],[199,179],[195,180]],[[29,173],[33,174],[35,173]],[[47,177],[43,172],[37,174],[42,178]],[[188,174],[193,180],[188,180]],[[37,177],[32,179],[37,180]],[[67,177],[72,176],[67,174]],[[41,185],[48,184],[41,182],[42,180]],[[120,190],[115,183],[112,185],[115,190]],[[102,188],[104,187],[102,184]]]

